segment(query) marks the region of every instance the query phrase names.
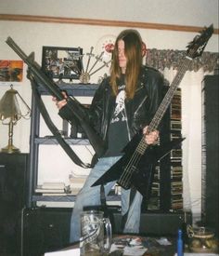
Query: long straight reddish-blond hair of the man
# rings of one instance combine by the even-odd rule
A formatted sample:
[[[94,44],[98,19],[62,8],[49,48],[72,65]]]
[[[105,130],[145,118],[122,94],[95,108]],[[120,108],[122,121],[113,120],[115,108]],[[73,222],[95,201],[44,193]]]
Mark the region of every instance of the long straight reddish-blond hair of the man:
[[[112,63],[110,68],[110,86],[113,93],[118,94],[117,80],[121,77],[122,71],[119,66],[118,42],[124,42],[124,54],[126,57],[125,70],[125,92],[127,99],[133,99],[137,86],[137,79],[142,66],[142,39],[140,34],[133,29],[122,31],[118,35],[112,55]]]

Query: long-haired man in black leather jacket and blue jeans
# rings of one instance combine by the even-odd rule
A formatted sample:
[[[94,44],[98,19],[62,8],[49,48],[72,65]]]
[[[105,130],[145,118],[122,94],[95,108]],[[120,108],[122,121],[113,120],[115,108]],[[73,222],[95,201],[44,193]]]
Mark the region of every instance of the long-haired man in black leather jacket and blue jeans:
[[[80,213],[85,206],[100,205],[100,186],[91,186],[122,156],[122,149],[142,129],[145,142],[154,144],[159,131],[148,133],[147,126],[161,102],[163,77],[155,69],[143,65],[143,42],[140,34],[128,29],[115,41],[110,76],[97,88],[92,104],[86,111],[87,120],[106,143],[106,152],[97,159],[84,187],[77,195],[71,216],[71,242],[80,238]],[[66,101],[53,99],[61,109]],[[104,184],[105,195],[116,181]],[[132,196],[131,196],[132,195]],[[122,189],[123,233],[139,232],[143,196],[132,189]]]

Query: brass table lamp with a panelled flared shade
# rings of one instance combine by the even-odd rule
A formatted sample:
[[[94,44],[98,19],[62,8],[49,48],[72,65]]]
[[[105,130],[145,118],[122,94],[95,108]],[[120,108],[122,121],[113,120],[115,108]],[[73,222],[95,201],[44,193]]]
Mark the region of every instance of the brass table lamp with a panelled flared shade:
[[[16,96],[19,96],[17,98]],[[19,100],[18,100],[19,99]],[[27,109],[27,113],[23,115],[19,108],[19,101],[21,101]],[[0,120],[3,125],[8,126],[8,145],[2,148],[3,153],[19,153],[19,148],[13,145],[13,129],[21,117],[30,118],[31,109],[27,103],[19,95],[19,92],[10,86],[0,101]]]

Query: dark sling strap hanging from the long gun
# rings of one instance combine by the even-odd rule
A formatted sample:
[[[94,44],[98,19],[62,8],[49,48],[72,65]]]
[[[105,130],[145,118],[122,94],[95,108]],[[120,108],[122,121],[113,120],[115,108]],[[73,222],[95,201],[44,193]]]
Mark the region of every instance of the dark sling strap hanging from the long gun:
[[[36,89],[37,86],[33,81],[32,76],[29,78],[32,81],[32,94],[34,96],[34,99],[36,101],[37,107],[40,110],[41,115],[43,116],[44,120],[45,120],[45,124],[46,126],[50,129],[50,131],[52,132],[52,134],[54,135],[54,137],[57,139],[59,145],[64,149],[64,151],[66,152],[67,155],[70,156],[71,160],[78,166],[82,167],[82,168],[91,168],[90,164],[86,164],[84,163],[78,155],[76,155],[73,151],[73,149],[71,148],[71,146],[64,140],[64,138],[62,138],[60,132],[58,131],[58,128],[54,125],[54,123],[52,122],[50,116],[47,113],[47,110],[45,108],[45,104],[44,101],[42,100],[38,90]]]

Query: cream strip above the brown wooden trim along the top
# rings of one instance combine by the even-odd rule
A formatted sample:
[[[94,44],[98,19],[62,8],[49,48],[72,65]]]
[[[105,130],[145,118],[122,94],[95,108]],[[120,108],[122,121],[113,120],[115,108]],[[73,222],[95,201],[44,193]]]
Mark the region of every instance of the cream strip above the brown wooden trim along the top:
[[[217,0],[8,0],[0,1],[0,12],[50,17],[126,20],[205,26],[218,24]]]

